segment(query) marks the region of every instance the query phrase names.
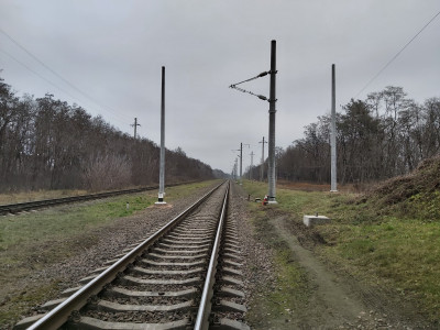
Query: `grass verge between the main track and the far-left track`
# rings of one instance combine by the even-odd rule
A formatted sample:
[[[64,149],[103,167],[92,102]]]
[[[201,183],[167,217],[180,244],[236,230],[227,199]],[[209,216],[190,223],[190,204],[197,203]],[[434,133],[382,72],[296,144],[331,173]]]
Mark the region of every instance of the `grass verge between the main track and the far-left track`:
[[[172,204],[212,184],[169,187],[166,201]],[[90,233],[94,229],[111,226],[116,219],[143,210],[156,200],[157,191],[152,190],[0,217],[0,329],[8,329],[30,307],[58,292],[57,280],[28,280],[32,273],[94,245],[98,240]],[[40,287],[28,285],[26,280],[37,282]]]

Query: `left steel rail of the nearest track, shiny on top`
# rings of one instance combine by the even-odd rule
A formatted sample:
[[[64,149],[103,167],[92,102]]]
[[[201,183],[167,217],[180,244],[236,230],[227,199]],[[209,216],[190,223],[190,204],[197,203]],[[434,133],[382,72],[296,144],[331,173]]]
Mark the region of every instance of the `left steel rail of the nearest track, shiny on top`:
[[[148,246],[151,246],[160,238],[165,235],[170,229],[173,229],[179,222],[179,220],[184,219],[189,212],[191,212],[198,206],[200,206],[210,195],[212,195],[213,191],[220,188],[220,186],[223,184],[224,182],[216,186],[204,197],[201,197],[198,201],[193,204],[185,211],[183,211],[180,215],[170,220],[167,224],[157,230],[152,237],[146,239],[144,242],[140,243],[136,248],[134,248],[131,252],[129,252],[119,261],[117,261],[109,268],[103,271],[101,274],[99,274],[97,277],[95,277],[92,280],[90,280],[88,284],[81,287],[78,292],[72,295],[69,298],[67,298],[57,307],[52,309],[35,323],[30,326],[28,330],[58,329],[62,324],[64,324],[67,321],[68,317],[72,315],[74,310],[79,310],[81,307],[84,307],[91,296],[102,290],[102,288],[107,284],[112,282],[121,271],[125,270],[127,266],[133,263],[134,260],[139,255],[141,255]]]

